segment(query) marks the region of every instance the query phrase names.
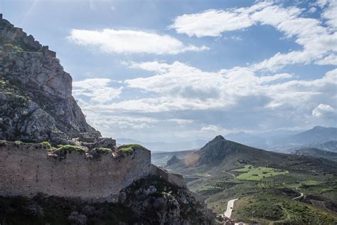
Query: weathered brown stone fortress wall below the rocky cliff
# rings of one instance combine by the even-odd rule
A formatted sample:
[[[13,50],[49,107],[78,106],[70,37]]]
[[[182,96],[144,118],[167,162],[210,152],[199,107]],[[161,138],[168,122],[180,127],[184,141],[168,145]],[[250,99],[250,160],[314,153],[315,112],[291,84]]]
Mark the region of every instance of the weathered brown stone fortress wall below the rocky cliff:
[[[38,192],[60,197],[80,197],[94,202],[116,202],[119,191],[151,174],[149,150],[132,155],[86,159],[78,152],[65,159],[47,157],[38,144],[13,142],[0,145],[0,195],[33,196]]]

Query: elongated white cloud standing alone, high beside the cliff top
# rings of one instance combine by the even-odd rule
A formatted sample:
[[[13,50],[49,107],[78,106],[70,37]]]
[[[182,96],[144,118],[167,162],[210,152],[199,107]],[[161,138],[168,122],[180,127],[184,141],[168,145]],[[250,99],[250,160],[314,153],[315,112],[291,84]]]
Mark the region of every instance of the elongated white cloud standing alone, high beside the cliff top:
[[[73,29],[69,38],[77,45],[98,48],[105,53],[151,53],[160,55],[208,50],[205,46],[186,46],[169,35],[159,35],[144,31],[114,29],[88,31]]]

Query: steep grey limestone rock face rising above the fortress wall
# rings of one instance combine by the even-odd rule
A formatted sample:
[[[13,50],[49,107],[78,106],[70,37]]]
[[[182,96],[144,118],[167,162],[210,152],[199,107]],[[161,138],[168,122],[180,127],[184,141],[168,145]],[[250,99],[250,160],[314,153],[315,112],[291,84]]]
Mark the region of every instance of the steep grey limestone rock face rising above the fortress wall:
[[[47,46],[0,20],[0,138],[66,143],[90,127],[72,96],[72,78]]]

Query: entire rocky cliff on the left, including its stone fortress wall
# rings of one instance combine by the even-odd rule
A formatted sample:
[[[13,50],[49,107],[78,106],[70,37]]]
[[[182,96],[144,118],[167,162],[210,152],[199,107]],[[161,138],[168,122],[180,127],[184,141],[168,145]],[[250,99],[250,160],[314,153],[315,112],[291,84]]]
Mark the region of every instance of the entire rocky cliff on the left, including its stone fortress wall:
[[[180,174],[87,124],[55,56],[0,14],[0,224],[213,224]]]

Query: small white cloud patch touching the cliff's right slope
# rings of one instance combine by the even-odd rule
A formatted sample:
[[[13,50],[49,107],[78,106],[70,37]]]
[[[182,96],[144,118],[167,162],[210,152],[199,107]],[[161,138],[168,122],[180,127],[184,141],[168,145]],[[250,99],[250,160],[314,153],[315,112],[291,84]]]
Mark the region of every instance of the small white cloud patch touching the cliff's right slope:
[[[122,88],[111,88],[112,80],[107,78],[92,78],[73,82],[73,95],[77,98],[85,96],[96,103],[107,103],[118,98]]]

